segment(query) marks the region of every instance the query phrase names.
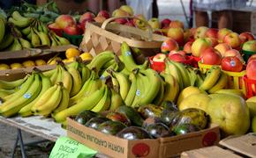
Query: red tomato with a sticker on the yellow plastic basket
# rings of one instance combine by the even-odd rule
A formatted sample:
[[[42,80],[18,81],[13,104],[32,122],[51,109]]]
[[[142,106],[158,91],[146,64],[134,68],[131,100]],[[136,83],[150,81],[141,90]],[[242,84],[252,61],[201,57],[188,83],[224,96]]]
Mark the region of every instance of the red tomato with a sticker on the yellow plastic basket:
[[[241,72],[243,63],[236,56],[226,56],[222,59],[222,69],[224,71]]]

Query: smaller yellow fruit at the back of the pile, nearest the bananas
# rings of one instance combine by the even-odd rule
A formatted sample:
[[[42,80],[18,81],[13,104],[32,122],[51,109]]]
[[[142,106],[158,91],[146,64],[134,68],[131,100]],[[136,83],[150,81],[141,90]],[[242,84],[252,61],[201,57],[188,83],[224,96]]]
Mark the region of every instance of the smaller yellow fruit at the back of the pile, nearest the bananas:
[[[197,87],[189,86],[182,90],[177,97],[177,105],[179,105],[184,98],[191,96],[192,94],[199,94],[201,90]]]

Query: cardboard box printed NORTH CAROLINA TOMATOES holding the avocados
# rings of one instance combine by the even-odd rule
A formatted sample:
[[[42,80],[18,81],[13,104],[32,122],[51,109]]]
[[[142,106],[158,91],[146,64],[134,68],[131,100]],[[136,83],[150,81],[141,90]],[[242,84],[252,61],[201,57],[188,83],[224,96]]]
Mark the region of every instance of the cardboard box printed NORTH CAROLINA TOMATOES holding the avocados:
[[[140,157],[170,157],[185,150],[216,145],[220,140],[219,127],[216,125],[200,132],[169,138],[124,140],[80,125],[71,118],[68,118],[67,122],[67,135],[73,140],[99,153],[117,158],[138,157],[138,154]]]

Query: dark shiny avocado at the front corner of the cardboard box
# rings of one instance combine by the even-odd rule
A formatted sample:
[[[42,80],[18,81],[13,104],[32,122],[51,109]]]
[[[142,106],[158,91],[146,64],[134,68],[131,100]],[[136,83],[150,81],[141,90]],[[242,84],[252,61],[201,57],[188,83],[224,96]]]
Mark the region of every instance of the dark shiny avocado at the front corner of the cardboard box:
[[[152,138],[145,129],[139,126],[128,126],[119,133],[117,133],[116,136],[126,140],[140,140]]]

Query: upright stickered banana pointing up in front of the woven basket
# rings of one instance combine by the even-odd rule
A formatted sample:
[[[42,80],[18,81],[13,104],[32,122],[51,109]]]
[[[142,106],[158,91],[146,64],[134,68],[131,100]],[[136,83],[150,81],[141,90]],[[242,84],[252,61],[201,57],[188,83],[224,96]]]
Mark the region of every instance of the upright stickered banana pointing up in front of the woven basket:
[[[147,68],[148,61],[145,61],[143,65],[137,65],[132,57],[132,52],[130,47],[126,42],[122,43],[121,46],[121,54],[124,61],[125,68],[127,68],[130,72],[132,72],[135,68]]]

